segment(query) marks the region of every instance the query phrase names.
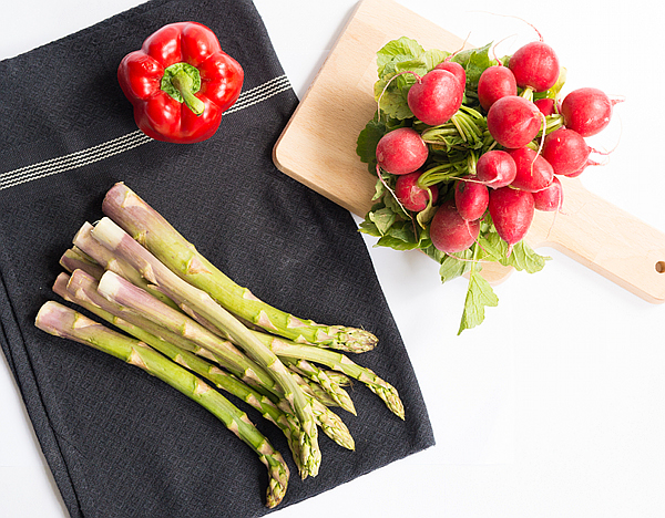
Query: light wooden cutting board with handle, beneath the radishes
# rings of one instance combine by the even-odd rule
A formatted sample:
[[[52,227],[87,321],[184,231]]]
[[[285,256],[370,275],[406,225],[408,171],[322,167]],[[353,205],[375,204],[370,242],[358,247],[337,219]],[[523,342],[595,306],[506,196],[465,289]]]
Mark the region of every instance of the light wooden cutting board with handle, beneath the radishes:
[[[356,155],[356,139],[376,111],[376,52],[402,35],[426,49],[463,45],[461,38],[392,0],[359,2],[274,148],[282,172],[360,217],[375,193],[376,177]],[[664,302],[665,235],[593,195],[579,179],[561,179],[562,211],[536,211],[528,242],[560,250],[648,302]],[[483,267],[492,283],[511,271]]]

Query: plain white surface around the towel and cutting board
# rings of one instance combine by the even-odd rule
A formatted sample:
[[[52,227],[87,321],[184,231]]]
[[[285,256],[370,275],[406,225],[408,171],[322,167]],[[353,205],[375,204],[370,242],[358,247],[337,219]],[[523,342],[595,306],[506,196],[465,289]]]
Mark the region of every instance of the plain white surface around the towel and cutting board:
[[[83,29],[137,0],[3,0],[0,59]],[[402,0],[471,41],[533,23],[569,69],[569,87],[624,95],[605,167],[584,184],[665,231],[658,154],[665,120],[659,2]],[[301,97],[356,2],[256,0]],[[31,85],[27,85],[31,89]],[[665,307],[644,302],[575,261],[497,287],[498,308],[457,336],[463,280],[442,286],[418,252],[371,257],[423,391],[437,446],[275,516],[665,516]],[[665,257],[663,258],[665,259]],[[66,516],[9,367],[0,361],[0,516]]]

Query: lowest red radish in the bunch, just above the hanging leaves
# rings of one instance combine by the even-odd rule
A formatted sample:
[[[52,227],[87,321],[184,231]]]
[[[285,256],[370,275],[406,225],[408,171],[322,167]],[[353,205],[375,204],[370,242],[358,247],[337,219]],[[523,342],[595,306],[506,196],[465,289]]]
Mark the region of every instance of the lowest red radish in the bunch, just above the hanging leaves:
[[[453,200],[441,205],[430,222],[432,245],[442,252],[456,253],[469,248],[480,234],[480,221],[467,221]]]

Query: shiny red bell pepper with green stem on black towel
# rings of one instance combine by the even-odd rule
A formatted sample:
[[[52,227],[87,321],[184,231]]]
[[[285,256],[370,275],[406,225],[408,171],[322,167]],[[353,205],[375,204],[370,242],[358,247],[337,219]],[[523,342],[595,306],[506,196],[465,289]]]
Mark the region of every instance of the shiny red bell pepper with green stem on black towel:
[[[117,68],[117,80],[146,135],[190,144],[215,134],[238,99],[244,72],[213,31],[196,22],[164,25]]]

